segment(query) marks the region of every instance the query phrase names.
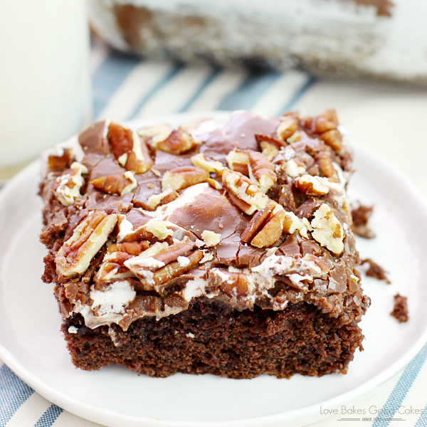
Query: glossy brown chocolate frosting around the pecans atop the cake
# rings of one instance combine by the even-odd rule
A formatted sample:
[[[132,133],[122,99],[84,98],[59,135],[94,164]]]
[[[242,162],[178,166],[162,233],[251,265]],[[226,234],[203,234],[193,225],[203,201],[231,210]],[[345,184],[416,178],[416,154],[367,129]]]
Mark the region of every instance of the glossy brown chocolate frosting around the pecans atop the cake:
[[[252,112],[235,112],[222,127],[198,133],[196,147],[179,156],[167,152],[167,147],[156,149],[151,137],[144,138],[142,144],[149,144],[154,164],[142,174],[129,172],[120,165],[110,146],[107,122],[95,123],[83,132],[79,142],[85,152],[82,163],[88,171],[82,169],[81,172],[80,196],[70,206],[60,204],[56,196],[58,183],[61,179],[66,180],[71,169],[47,175],[41,191],[46,223],[41,238],[50,249],[43,278],[55,282],[58,295],[63,295],[59,298],[63,315],[73,310],[88,310],[85,320],[90,327],[117,322],[127,328],[130,322],[145,315],[160,318],[186,310],[194,297],[216,297],[237,310],[252,310],[255,305],[284,310],[288,303],[305,301],[334,317],[342,316],[345,322],[358,322],[369,306],[369,298],[362,294],[359,273],[355,269],[359,255],[351,231],[351,217],[346,210],[346,183],[341,181],[342,176],[346,174],[348,177],[352,170],[351,152],[344,145],[337,149],[337,143],[334,148],[327,144],[322,131],[317,128],[318,117],[304,120],[300,120],[297,114],[289,117],[297,123],[299,140],[283,142],[285,146],[271,162],[270,170],[274,171],[277,181],[267,196],[270,202],[289,215],[304,218],[309,228],[305,236],[299,229],[292,234],[284,229],[282,236],[267,247],[255,246],[253,241],[242,241],[242,235],[255,214],[249,216],[241,210],[242,206],[236,204],[236,194],[223,185],[221,174],[210,174],[220,189],[214,188],[214,181],[209,185],[204,178],[204,181],[195,181],[193,185],[177,186],[176,191],[162,192],[162,180],[175,168],[192,167],[191,157],[198,153],[227,166],[226,155],[235,148],[260,152],[255,135],[267,135],[274,142],[278,138],[279,119],[265,119]],[[325,117],[331,117],[330,112],[320,117],[323,122]],[[332,123],[333,126],[336,124]],[[120,125],[115,125],[115,129],[120,130]],[[130,133],[127,130],[123,132]],[[187,132],[192,135],[191,128]],[[119,143],[116,141],[115,144]],[[116,151],[120,152],[120,146]],[[290,160],[294,172],[288,169]],[[295,175],[295,170],[300,169],[305,172]],[[338,169],[342,169],[339,182]],[[133,181],[132,188],[122,195],[108,194],[107,190],[95,189],[88,184],[94,179],[125,174],[132,176]],[[313,196],[310,191],[307,194],[302,191],[295,183],[301,174],[326,179],[323,182],[330,185],[327,194]],[[252,182],[253,188],[259,185],[251,181],[253,176],[242,179]],[[129,180],[127,178],[127,185]],[[160,194],[169,196],[169,199],[164,203],[159,200],[157,205],[149,204],[150,197]],[[157,200],[156,197],[154,199]],[[320,206],[325,204],[344,230],[344,250],[340,253],[333,253],[325,243],[316,241],[310,234],[310,223]],[[100,211],[106,215],[117,215],[117,224],[107,236],[107,241],[90,261],[85,273],[70,277],[61,275],[56,265],[60,248],[68,244],[78,224]],[[124,218],[127,221],[123,222]],[[166,258],[162,255],[162,259],[168,260],[167,265],[162,266],[156,261],[153,253],[139,270],[132,270],[132,263],[127,263],[127,260],[139,257],[141,245],[152,248],[157,243],[162,250],[174,251]],[[102,283],[101,270],[116,273],[106,275],[114,278]],[[149,277],[156,279],[150,282]],[[234,288],[233,280],[236,280]],[[115,320],[105,320],[90,308],[90,292],[107,292],[109,287],[120,281],[127,283],[136,296],[128,305],[127,312],[116,313],[116,317],[113,316]],[[151,292],[149,304],[147,292]],[[84,304],[78,305],[77,300],[84,301]],[[120,321],[117,320],[119,318]]]

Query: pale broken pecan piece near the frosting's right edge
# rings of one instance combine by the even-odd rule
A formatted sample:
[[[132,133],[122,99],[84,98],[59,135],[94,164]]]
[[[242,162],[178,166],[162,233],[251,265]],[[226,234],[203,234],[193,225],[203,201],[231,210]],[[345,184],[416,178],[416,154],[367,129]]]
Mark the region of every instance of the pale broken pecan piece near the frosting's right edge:
[[[332,209],[327,204],[321,204],[315,211],[311,221],[312,236],[322,246],[339,255],[344,251],[344,231]]]

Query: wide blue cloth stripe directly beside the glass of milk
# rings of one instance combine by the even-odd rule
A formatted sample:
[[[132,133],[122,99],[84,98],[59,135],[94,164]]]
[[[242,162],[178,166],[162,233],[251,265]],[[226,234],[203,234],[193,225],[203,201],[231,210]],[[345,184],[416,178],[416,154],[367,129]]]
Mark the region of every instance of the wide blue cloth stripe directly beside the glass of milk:
[[[110,97],[132,71],[140,58],[113,51],[92,76],[93,117],[97,117]]]

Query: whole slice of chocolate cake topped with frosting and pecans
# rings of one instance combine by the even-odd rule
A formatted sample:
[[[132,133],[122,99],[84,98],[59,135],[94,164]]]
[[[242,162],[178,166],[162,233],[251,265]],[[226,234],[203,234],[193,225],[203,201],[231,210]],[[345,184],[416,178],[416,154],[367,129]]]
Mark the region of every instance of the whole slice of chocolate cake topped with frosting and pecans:
[[[48,154],[40,192],[43,280],[76,367],[347,371],[370,301],[334,110],[138,132],[105,121],[78,142]]]

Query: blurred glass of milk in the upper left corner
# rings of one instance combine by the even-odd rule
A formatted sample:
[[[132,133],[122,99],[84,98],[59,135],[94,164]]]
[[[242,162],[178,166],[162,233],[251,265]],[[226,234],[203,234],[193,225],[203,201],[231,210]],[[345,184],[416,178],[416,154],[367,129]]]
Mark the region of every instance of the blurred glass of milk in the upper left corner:
[[[91,119],[85,0],[0,1],[0,180]]]

